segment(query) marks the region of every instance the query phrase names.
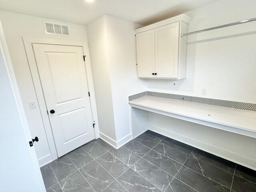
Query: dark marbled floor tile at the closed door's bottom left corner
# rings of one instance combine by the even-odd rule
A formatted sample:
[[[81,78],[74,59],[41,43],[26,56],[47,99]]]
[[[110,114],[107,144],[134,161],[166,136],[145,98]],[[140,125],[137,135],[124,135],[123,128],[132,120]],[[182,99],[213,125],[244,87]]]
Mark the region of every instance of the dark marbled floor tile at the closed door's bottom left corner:
[[[66,176],[74,173],[77,170],[76,166],[72,163],[67,155],[54,160],[50,163],[50,165],[58,181],[64,179]]]

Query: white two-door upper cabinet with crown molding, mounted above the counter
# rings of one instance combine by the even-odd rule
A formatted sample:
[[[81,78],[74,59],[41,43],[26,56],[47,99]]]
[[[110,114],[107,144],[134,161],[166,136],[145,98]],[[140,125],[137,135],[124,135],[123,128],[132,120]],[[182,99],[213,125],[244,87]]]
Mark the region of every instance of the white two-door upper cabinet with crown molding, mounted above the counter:
[[[186,33],[192,19],[185,14],[136,32],[139,78],[182,79],[186,77]]]

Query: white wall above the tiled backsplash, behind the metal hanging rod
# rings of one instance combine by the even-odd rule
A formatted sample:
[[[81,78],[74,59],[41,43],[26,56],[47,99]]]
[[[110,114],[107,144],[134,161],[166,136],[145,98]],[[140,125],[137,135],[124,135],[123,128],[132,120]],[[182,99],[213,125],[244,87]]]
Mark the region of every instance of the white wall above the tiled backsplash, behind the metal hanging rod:
[[[255,7],[255,0],[220,0],[186,12],[188,32],[254,18]],[[256,103],[255,42],[256,22],[190,35],[186,78],[147,80],[148,91]]]

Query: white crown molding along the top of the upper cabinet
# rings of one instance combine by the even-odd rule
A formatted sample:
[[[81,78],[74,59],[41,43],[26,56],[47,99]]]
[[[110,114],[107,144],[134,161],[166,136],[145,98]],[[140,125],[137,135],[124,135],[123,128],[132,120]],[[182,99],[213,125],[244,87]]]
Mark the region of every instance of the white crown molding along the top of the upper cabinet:
[[[164,25],[168,25],[168,24],[178,22],[178,21],[183,21],[186,24],[189,24],[191,20],[192,20],[191,17],[187,16],[186,14],[181,14],[181,15],[177,15],[175,17],[171,17],[171,18],[168,18],[166,20],[162,20],[160,22],[156,22],[156,23],[153,23],[151,25],[136,29],[134,31],[137,34],[137,33],[140,33],[140,32],[144,32],[144,31],[147,31],[147,30],[150,30],[150,29],[154,29],[154,28],[164,26]]]

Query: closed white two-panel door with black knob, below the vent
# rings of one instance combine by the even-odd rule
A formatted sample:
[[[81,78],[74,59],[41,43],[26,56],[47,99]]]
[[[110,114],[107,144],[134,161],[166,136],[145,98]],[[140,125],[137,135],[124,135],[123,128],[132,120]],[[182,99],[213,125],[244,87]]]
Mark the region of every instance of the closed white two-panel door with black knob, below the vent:
[[[95,138],[83,50],[79,46],[32,45],[60,157]]]

